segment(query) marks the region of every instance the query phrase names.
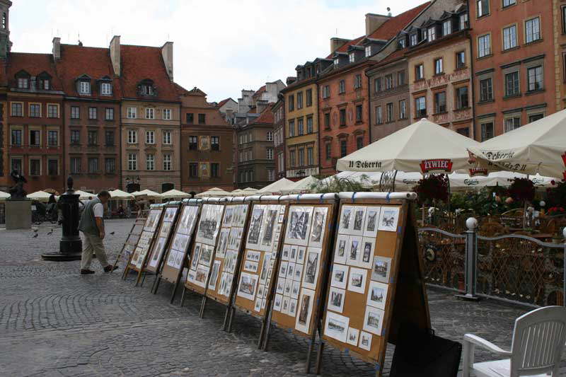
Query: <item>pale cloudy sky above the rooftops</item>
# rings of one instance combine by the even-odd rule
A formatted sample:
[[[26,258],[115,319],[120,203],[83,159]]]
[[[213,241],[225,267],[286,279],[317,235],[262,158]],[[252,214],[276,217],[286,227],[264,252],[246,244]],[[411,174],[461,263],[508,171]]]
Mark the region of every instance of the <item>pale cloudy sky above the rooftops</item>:
[[[50,53],[62,43],[108,47],[173,42],[173,77],[209,102],[238,100],[242,89],[294,76],[326,57],[330,37],[365,34],[365,14],[393,16],[424,0],[12,0],[13,52]]]

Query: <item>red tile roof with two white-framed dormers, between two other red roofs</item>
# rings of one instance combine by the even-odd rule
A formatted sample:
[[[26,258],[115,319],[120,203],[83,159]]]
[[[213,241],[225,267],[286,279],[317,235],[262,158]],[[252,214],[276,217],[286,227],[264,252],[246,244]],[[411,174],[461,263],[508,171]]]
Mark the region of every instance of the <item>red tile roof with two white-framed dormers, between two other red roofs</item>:
[[[92,94],[86,98],[119,99],[122,91],[120,81],[114,78],[108,48],[61,45],[61,59],[55,63],[66,95],[79,96],[76,79],[86,74],[91,78]],[[108,76],[112,79],[112,95],[100,95],[96,80]]]

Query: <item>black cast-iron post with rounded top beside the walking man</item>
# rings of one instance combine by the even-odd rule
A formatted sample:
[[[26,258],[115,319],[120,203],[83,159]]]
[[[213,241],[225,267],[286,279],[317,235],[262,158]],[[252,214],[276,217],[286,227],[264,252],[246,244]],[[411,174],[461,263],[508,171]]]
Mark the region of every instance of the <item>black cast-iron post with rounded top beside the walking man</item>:
[[[63,236],[59,241],[59,253],[45,253],[44,260],[80,260],[83,243],[79,237],[79,195],[73,190],[73,178],[67,178],[67,192],[59,197],[59,209],[62,211]]]

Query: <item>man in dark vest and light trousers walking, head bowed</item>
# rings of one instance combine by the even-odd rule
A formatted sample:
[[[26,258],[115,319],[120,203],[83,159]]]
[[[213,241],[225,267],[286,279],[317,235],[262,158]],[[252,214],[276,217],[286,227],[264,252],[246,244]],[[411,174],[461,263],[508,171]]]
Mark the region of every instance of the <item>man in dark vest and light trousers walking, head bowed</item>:
[[[100,265],[104,267],[104,272],[112,271],[112,265],[106,260],[103,239],[104,233],[104,204],[108,203],[110,193],[102,190],[98,192],[96,198],[88,201],[81,214],[79,221],[79,231],[83,232],[83,255],[81,257],[81,275],[94,274],[91,269],[93,251]],[[114,269],[117,269],[115,266]]]

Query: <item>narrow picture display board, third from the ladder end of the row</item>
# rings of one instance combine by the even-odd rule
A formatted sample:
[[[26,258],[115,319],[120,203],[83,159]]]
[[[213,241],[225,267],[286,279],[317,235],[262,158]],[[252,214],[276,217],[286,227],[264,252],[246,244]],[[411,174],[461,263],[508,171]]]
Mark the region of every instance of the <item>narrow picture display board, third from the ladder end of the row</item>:
[[[173,240],[168,245],[166,255],[163,256],[161,269],[157,274],[154,294],[161,279],[165,279],[166,282],[173,284],[171,303],[175,298],[181,276],[183,276],[183,269],[187,267],[187,255],[192,249],[193,233],[200,216],[200,202],[202,202],[202,199],[183,200],[178,215],[179,219],[173,231]]]

